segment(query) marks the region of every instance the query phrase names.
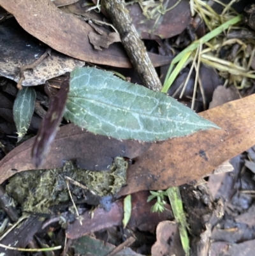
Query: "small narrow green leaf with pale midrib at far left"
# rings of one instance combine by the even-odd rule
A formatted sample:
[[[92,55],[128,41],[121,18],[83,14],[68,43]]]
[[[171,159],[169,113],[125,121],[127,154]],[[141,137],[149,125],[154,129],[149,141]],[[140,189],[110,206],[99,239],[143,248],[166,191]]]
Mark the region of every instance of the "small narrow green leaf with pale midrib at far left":
[[[26,86],[18,91],[13,104],[13,118],[17,128],[18,141],[22,139],[29,128],[35,101],[36,91],[33,88]]]

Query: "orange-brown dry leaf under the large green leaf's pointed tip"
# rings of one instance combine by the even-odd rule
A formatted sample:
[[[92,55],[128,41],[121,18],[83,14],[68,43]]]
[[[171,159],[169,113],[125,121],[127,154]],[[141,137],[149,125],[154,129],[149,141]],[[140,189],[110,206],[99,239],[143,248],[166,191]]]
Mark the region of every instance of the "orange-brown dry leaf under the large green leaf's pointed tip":
[[[129,167],[128,186],[119,194],[164,190],[169,186],[189,183],[253,146],[254,103],[253,94],[199,114],[222,130],[210,129],[152,144]]]

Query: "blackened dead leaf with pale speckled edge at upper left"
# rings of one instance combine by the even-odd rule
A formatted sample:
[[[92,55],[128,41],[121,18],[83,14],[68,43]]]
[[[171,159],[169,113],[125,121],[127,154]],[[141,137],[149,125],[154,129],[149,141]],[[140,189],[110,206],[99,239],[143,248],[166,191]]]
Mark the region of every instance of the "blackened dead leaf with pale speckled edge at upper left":
[[[0,75],[18,82],[20,68],[31,64],[46,50],[40,41],[33,38],[18,25],[14,19],[6,20],[0,26],[0,47],[3,49],[3,58],[0,60]],[[71,72],[75,66],[83,66],[84,61],[73,59],[64,54],[52,51],[33,70],[25,70],[25,80],[22,86],[36,86],[44,84],[52,77],[58,77],[66,72]]]

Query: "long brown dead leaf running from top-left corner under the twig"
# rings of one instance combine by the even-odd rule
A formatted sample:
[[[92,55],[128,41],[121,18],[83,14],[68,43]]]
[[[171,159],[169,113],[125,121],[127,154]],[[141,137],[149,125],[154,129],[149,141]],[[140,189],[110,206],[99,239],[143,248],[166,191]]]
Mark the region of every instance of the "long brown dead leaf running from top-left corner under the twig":
[[[99,52],[89,42],[88,33],[94,29],[82,20],[59,10],[52,1],[0,0],[20,26],[53,49],[68,56],[96,64],[130,68],[122,45],[110,45]],[[170,57],[149,54],[154,66],[168,64]]]

